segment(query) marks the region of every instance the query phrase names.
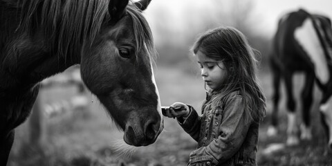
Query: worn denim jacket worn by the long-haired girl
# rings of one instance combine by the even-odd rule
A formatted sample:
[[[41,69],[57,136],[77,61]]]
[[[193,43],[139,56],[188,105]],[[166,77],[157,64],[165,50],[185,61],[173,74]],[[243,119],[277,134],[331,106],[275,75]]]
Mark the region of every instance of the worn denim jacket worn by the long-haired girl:
[[[190,115],[184,121],[178,118],[181,127],[198,142],[188,165],[257,165],[259,121],[245,123],[242,98],[238,91],[233,92],[224,104],[201,116],[188,105]]]

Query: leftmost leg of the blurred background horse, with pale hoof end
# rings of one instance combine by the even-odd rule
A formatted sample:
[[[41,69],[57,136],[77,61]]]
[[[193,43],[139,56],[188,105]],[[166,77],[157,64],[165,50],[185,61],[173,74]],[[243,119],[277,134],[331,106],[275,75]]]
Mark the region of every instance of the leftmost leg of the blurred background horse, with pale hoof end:
[[[272,60],[271,60],[272,61]],[[273,109],[272,109],[272,124],[268,127],[267,135],[276,136],[277,135],[277,125],[278,125],[278,104],[280,100],[280,81],[281,81],[281,72],[274,64],[271,62],[272,72],[273,72]]]

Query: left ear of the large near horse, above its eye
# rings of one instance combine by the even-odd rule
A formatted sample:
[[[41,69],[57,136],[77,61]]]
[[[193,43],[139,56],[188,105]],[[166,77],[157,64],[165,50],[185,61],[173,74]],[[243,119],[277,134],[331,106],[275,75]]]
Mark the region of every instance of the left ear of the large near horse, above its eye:
[[[122,15],[126,13],[126,7],[129,0],[111,0],[109,1],[109,15],[111,16],[111,21],[116,23]]]

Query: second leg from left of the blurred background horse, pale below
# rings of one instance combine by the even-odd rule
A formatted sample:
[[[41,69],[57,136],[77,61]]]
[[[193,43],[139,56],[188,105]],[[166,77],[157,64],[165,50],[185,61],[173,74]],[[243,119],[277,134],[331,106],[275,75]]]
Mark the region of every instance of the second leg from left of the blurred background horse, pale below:
[[[285,73],[285,84],[287,92],[287,109],[288,109],[288,128],[287,128],[287,145],[298,145],[299,138],[297,137],[297,125],[295,109],[296,103],[293,96],[293,73]]]

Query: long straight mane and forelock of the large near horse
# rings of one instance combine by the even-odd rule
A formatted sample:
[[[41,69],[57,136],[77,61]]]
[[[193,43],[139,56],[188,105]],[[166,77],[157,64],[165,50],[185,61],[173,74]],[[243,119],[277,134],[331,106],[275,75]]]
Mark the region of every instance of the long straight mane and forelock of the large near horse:
[[[108,24],[109,0],[1,0],[15,6],[20,13],[17,32],[32,35],[44,30],[51,53],[67,57],[80,53],[86,40],[91,43],[102,26]],[[127,6],[133,21],[137,48],[147,46],[150,54],[155,51],[151,30],[140,10],[133,3]]]

